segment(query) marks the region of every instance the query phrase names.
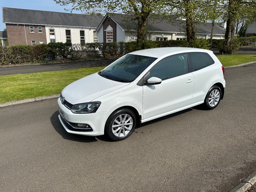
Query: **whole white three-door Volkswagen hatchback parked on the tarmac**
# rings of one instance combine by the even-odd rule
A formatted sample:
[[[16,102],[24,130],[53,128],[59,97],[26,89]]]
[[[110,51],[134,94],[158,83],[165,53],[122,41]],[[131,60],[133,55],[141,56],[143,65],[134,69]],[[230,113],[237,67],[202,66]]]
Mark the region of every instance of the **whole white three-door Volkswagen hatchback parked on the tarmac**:
[[[124,140],[143,122],[199,104],[213,109],[224,90],[224,67],[212,51],[144,49],[65,87],[59,119],[72,134]]]

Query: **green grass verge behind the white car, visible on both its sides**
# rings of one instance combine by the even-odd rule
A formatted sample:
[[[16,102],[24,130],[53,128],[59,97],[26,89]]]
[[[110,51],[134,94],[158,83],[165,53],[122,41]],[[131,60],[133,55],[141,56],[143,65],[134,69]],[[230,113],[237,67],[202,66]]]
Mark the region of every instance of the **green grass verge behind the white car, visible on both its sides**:
[[[256,61],[256,55],[218,55],[224,67]],[[68,84],[104,67],[0,76],[0,103],[60,94]]]

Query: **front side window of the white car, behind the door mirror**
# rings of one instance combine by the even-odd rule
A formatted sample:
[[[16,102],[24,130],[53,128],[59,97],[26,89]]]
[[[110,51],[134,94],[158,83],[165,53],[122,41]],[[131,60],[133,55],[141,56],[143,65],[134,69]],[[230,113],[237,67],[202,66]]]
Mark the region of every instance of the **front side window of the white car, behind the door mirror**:
[[[174,55],[159,61],[151,70],[150,77],[162,80],[188,73],[186,54]]]

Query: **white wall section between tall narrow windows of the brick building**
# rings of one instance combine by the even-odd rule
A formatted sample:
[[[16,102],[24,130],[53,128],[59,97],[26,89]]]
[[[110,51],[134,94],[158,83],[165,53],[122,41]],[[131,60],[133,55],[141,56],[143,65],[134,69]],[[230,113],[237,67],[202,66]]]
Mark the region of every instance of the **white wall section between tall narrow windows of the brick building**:
[[[87,27],[45,26],[47,44],[50,42],[49,29],[55,29],[55,42],[66,42],[66,29],[70,30],[71,43],[80,44],[80,30],[84,30],[85,43],[93,43],[93,30]]]

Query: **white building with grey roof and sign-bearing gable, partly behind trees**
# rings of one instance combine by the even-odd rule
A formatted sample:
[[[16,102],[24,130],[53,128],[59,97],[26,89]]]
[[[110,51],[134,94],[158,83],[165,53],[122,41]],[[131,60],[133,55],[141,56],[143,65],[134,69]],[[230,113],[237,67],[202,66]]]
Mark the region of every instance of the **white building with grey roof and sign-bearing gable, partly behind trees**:
[[[136,26],[131,23],[131,15],[108,14],[106,15],[98,28],[98,41],[102,42],[129,42],[136,41]],[[148,40],[167,41],[167,40],[184,40],[186,39],[186,28],[184,21],[175,20],[169,23],[165,19],[148,21]],[[198,38],[210,38],[212,23],[202,23],[196,25]],[[213,38],[224,39],[225,30],[223,27],[214,25]],[[109,36],[111,35],[111,36]]]

